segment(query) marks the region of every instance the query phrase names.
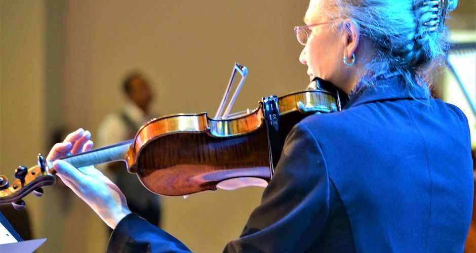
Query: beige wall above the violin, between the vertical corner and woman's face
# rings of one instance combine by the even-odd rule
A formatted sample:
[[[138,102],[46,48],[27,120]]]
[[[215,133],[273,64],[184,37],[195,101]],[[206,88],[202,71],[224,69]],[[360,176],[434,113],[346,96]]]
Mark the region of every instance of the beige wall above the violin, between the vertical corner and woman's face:
[[[293,25],[302,23],[306,4],[69,1],[65,109],[77,110],[82,95],[91,110],[79,121],[71,113],[67,123],[94,128],[105,113],[117,109],[118,83],[131,68],[154,82],[154,108],[162,114],[214,112],[234,61],[250,68],[237,109],[255,107],[260,96],[299,89],[307,78],[298,62]]]

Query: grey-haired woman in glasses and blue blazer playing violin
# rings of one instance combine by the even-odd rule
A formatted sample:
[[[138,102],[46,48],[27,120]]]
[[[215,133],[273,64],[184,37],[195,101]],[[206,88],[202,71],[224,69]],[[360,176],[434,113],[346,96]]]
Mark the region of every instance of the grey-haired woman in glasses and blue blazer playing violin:
[[[287,136],[273,179],[225,252],[462,252],[473,174],[468,123],[429,97],[448,47],[440,0],[311,0],[295,32],[310,79],[344,91],[340,112],[314,114]],[[90,150],[82,129],[48,160]],[[186,252],[132,214],[94,167],[62,160],[58,176],[114,229],[110,252]]]

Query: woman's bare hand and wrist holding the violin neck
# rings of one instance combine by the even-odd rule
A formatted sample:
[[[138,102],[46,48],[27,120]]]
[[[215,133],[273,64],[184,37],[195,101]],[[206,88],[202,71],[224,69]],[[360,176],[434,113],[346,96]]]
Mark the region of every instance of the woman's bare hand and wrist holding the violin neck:
[[[63,142],[53,146],[47,162],[61,181],[114,229],[117,223],[131,213],[121,190],[94,166],[75,168],[68,162],[57,160],[91,150],[93,142],[90,139],[91,133],[83,129],[70,133]]]

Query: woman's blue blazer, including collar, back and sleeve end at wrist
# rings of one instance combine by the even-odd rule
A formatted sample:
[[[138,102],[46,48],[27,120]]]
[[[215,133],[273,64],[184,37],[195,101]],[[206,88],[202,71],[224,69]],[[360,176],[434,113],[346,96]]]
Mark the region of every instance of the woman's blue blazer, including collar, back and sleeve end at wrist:
[[[399,77],[288,135],[240,238],[224,252],[462,252],[473,201],[468,123]],[[188,252],[135,214],[109,252]]]

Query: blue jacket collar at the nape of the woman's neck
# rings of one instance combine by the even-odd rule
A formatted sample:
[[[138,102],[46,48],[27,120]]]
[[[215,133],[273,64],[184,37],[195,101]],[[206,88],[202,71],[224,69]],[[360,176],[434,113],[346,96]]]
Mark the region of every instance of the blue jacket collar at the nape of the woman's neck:
[[[362,86],[362,85],[361,85]],[[416,87],[411,91],[405,89],[405,82],[400,75],[380,76],[372,81],[371,86],[362,86],[349,95],[344,109],[384,100],[399,99],[428,99],[429,90],[425,87]]]

